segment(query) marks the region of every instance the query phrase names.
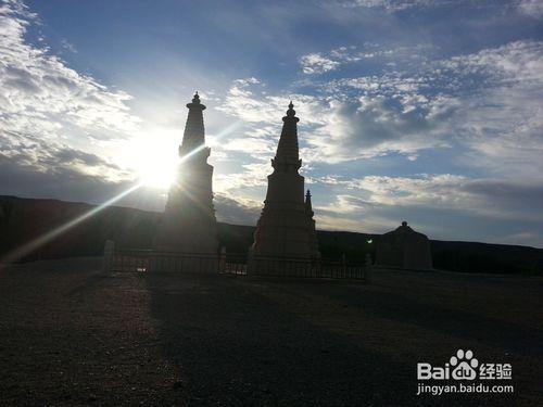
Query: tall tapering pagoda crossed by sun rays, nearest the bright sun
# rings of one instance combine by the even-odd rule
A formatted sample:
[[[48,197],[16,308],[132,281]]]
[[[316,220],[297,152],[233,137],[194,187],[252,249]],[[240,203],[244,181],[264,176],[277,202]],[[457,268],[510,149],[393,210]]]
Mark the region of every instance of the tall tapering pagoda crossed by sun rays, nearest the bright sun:
[[[179,166],[162,215],[156,249],[193,254],[216,254],[213,206],[213,166],[207,164],[203,111],[198,92],[188,103],[189,115],[179,147]]]

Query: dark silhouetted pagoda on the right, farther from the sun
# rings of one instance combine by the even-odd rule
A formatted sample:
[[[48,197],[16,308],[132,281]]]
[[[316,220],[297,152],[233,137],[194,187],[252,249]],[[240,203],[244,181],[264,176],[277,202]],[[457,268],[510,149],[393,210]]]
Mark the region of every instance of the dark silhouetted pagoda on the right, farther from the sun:
[[[318,252],[311,193],[304,201],[304,177],[298,147],[298,122],[294,105],[289,104],[282,118],[282,131],[275,158],[274,173],[268,176],[268,189],[261,218],[256,224],[251,257],[316,259]],[[254,263],[253,263],[254,264]]]

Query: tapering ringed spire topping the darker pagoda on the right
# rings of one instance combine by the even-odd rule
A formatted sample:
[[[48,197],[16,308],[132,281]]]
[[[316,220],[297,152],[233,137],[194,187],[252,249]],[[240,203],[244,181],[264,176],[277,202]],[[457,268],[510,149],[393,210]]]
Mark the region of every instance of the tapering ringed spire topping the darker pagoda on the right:
[[[272,160],[272,166],[276,170],[289,171],[294,169],[298,171],[302,166],[298,147],[298,122],[300,119],[295,114],[294,104],[290,101],[287,115],[282,118],[282,130],[277,152],[275,158]]]

